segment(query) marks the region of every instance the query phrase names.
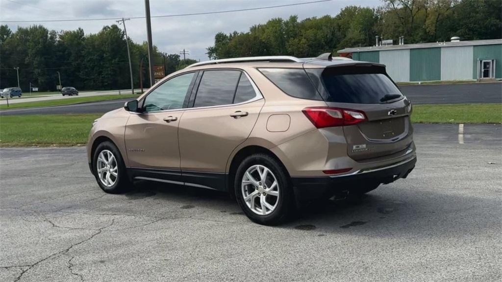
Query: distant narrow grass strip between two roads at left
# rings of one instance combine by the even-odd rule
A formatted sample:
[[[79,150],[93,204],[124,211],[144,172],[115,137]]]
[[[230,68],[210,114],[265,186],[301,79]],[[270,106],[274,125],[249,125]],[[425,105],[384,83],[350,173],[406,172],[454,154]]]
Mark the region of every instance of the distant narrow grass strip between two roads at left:
[[[59,106],[59,105],[70,105],[70,104],[76,104],[76,103],[106,101],[106,100],[124,99],[124,98],[138,98],[138,95],[133,95],[133,94],[98,95],[98,96],[88,96],[88,97],[75,97],[75,98],[70,98],[70,99],[57,99],[57,100],[46,100],[46,101],[36,101],[36,102],[22,102],[22,103],[10,104],[9,107],[7,107],[6,104],[3,104],[3,105],[0,105],[0,109],[19,109],[19,108],[30,108],[30,107]]]

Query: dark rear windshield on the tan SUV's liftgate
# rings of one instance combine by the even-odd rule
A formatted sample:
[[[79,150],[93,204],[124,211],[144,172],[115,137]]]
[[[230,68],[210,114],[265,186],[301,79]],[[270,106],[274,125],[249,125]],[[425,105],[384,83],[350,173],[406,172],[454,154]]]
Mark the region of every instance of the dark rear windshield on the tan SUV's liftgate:
[[[324,88],[320,91],[327,102],[378,104],[402,99],[401,91],[382,72],[379,69],[351,69],[345,72],[327,68],[320,74],[320,84]],[[319,72],[316,75],[319,78]]]

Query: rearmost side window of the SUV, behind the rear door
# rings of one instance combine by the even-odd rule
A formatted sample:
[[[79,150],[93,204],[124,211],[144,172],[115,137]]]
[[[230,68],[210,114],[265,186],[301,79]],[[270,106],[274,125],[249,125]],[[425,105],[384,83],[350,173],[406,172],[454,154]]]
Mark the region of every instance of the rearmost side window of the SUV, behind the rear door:
[[[303,69],[259,69],[284,93],[302,99],[322,100]]]

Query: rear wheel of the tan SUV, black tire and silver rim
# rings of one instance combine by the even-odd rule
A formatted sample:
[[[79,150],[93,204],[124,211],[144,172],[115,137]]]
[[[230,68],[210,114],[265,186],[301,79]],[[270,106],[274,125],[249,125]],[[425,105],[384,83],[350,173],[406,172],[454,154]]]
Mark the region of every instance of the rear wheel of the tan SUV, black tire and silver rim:
[[[268,170],[268,173],[265,176],[265,181],[263,181],[260,174],[265,175],[265,169]],[[246,173],[249,173],[253,180],[249,180]],[[246,174],[245,178],[244,174]],[[244,184],[242,183],[243,179]],[[274,180],[277,186],[273,185]],[[258,184],[258,186],[253,183]],[[271,186],[274,186],[274,188]],[[244,214],[256,223],[278,225],[284,222],[293,212],[294,197],[289,175],[283,166],[269,155],[251,155],[240,163],[235,174],[234,192]],[[277,194],[277,196],[274,194]],[[245,196],[250,197],[249,202],[244,200]],[[268,206],[262,203],[262,199]]]

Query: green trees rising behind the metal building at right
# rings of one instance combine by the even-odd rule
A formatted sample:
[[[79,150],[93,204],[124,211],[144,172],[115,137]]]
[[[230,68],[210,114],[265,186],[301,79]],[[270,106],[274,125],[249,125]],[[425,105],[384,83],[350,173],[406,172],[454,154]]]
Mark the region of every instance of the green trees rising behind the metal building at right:
[[[327,6],[328,7],[328,6]],[[271,19],[248,32],[218,33],[211,59],[291,55],[312,57],[347,47],[374,46],[375,36],[405,44],[502,37],[499,0],[383,0],[378,8],[348,6],[336,16]]]

